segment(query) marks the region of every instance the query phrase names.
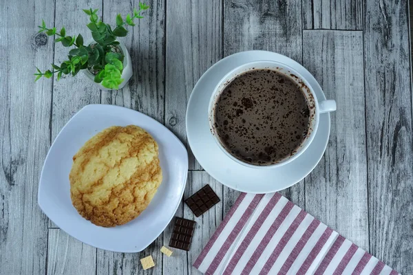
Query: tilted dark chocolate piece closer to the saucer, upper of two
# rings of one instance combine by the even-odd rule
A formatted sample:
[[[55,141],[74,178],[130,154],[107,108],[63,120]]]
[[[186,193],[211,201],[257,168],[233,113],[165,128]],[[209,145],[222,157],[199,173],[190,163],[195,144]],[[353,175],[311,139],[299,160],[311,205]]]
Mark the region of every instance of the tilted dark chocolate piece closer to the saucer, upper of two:
[[[220,198],[213,192],[209,184],[185,200],[185,203],[196,217],[200,217],[218,202],[220,202]]]

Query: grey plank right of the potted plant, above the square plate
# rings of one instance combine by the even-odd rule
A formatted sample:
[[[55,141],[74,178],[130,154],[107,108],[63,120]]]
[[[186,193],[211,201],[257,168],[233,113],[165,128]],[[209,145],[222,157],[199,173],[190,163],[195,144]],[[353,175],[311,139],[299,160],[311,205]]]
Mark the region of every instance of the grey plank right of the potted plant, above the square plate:
[[[165,3],[145,1],[151,8],[128,26],[128,35],[119,38],[131,55],[134,75],[119,91],[102,91],[102,104],[116,104],[165,120]],[[138,1],[103,1],[103,21],[115,25],[117,14],[123,19],[138,8]]]

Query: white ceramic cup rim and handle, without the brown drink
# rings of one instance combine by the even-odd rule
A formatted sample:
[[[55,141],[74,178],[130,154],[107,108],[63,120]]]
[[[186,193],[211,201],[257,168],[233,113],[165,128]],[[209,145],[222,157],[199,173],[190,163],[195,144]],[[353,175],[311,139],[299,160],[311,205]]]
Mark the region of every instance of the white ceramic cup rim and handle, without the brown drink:
[[[218,137],[218,133],[216,132],[215,126],[214,126],[215,102],[220,96],[221,92],[225,89],[227,85],[229,85],[229,83],[231,83],[231,81],[234,78],[236,78],[240,74],[243,74],[251,70],[256,70],[256,69],[271,69],[271,70],[279,72],[280,74],[284,74],[290,80],[293,80],[293,82],[297,83],[297,85],[301,87],[301,91],[303,91],[304,96],[306,96],[308,107],[310,108],[310,125],[308,127],[308,133],[306,135],[306,138],[304,139],[303,142],[301,142],[301,145],[295,150],[295,152],[290,154],[288,157],[285,157],[284,159],[280,159],[275,164],[255,165],[255,164],[249,164],[249,163],[243,162],[240,159],[237,159],[237,157],[234,157],[233,155],[231,155],[231,153],[226,151],[226,148],[222,145],[222,142],[220,138]],[[231,159],[233,159],[233,161],[238,162],[239,164],[242,164],[244,166],[251,167],[251,168],[275,168],[277,166],[282,166],[284,164],[287,164],[288,162],[292,162],[294,159],[299,157],[301,153],[306,151],[306,148],[308,148],[311,142],[313,142],[315,133],[317,132],[317,128],[319,124],[319,114],[327,113],[330,111],[335,111],[336,108],[337,107],[336,107],[335,100],[318,101],[313,88],[310,86],[310,84],[308,84],[306,79],[304,79],[297,71],[295,71],[295,69],[289,67],[288,65],[285,65],[284,63],[279,63],[275,61],[254,61],[251,63],[246,63],[244,65],[241,65],[240,67],[233,69],[231,72],[226,74],[226,76],[224,76],[224,78],[220,80],[220,83],[218,83],[218,85],[215,87],[213,94],[211,96],[211,100],[209,101],[209,109],[208,109],[209,127],[211,129],[211,134],[213,135],[215,142],[217,142],[221,150],[224,151],[224,153],[228,155]]]

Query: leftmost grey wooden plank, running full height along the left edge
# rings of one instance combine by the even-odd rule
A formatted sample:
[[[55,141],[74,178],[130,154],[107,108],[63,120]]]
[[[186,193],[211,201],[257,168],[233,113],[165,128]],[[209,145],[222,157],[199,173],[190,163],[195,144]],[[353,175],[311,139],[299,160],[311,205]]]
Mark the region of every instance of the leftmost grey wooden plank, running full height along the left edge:
[[[33,74],[53,60],[52,40],[36,27],[41,19],[53,25],[53,10],[53,1],[0,3],[0,274],[45,274],[47,218],[37,188],[52,82],[34,84]]]

